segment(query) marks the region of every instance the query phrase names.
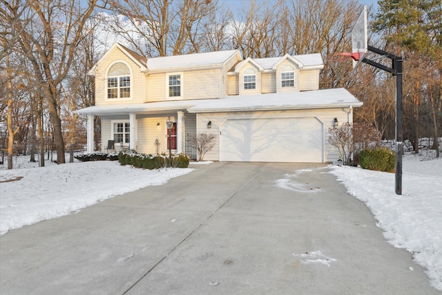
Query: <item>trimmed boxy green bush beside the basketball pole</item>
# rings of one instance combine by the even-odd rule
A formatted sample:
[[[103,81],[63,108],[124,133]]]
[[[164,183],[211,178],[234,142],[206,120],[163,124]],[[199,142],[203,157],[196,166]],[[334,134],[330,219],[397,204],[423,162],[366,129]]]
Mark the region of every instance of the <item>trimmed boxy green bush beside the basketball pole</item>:
[[[363,169],[393,172],[395,155],[386,148],[363,149],[359,153],[359,164]]]

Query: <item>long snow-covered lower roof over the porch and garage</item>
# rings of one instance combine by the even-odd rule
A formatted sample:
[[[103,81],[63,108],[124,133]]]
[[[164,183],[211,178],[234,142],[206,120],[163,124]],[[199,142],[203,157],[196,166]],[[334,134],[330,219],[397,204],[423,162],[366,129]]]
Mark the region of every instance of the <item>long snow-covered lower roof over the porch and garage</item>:
[[[151,113],[186,110],[189,113],[227,111],[266,111],[275,109],[311,109],[362,106],[344,88],[304,91],[297,93],[268,93],[260,95],[230,95],[220,99],[175,100],[145,104],[107,104],[76,111],[81,114],[111,115],[117,113]]]

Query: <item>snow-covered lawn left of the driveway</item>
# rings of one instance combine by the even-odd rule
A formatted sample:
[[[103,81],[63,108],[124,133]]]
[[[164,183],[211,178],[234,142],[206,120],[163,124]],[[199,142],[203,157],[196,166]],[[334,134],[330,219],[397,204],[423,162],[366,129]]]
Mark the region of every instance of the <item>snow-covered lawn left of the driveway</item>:
[[[19,157],[26,158],[28,157]],[[160,185],[193,169],[144,170],[117,161],[76,162],[0,171],[0,235],[11,229],[65,216],[99,201]],[[11,182],[3,182],[21,178]]]

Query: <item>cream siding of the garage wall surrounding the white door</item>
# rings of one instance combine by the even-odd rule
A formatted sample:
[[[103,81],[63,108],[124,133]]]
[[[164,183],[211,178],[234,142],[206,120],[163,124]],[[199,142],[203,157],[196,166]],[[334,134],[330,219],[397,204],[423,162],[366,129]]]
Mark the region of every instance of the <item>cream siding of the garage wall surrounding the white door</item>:
[[[218,135],[216,139],[216,146],[213,150],[206,153],[204,160],[218,161],[220,160],[220,124],[224,120],[230,118],[265,118],[265,117],[318,117],[318,120],[323,122],[324,129],[324,161],[334,162],[339,159],[339,152],[328,142],[329,128],[333,128],[333,121],[336,117],[339,125],[349,120],[348,108],[327,108],[327,109],[312,109],[312,110],[293,110],[293,111],[258,111],[258,112],[229,112],[229,113],[198,113],[197,114],[197,132],[198,133],[213,133]],[[212,122],[212,128],[207,129],[207,122]]]

